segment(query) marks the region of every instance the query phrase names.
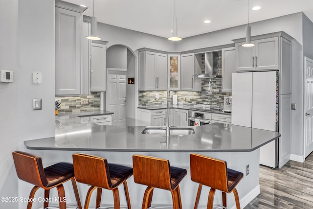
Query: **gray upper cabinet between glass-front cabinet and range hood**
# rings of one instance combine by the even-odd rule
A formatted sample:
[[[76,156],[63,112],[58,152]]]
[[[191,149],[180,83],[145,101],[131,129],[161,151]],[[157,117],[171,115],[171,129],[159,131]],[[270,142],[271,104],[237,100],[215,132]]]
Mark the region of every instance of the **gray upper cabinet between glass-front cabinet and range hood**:
[[[201,79],[195,76],[195,53],[180,55],[180,90],[201,92]]]

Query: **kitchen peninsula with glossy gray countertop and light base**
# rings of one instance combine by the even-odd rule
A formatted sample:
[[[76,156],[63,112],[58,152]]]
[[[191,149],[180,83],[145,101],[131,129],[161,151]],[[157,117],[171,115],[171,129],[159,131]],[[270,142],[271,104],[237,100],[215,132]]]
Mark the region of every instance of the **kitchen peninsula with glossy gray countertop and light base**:
[[[85,115],[87,116],[87,115]],[[146,126],[99,126],[77,115],[63,114],[56,116],[56,135],[45,139],[24,141],[27,149],[49,150],[49,155],[59,155],[60,151],[66,155],[63,161],[71,162],[71,154],[85,152],[99,155],[108,159],[109,163],[119,163],[132,166],[132,155],[140,153],[168,159],[173,166],[187,169],[188,175],[181,182],[180,191],[184,208],[193,208],[197,193],[197,184],[189,176],[190,153],[225,160],[229,168],[246,174],[246,165],[249,173],[237,186],[241,207],[245,207],[259,193],[259,147],[278,139],[277,132],[253,129],[243,126],[213,123],[194,129],[194,134],[163,135],[141,134]],[[53,159],[56,160],[56,159]],[[137,185],[133,177],[128,180],[131,204],[133,209],[141,208],[144,186]],[[82,186],[82,185],[78,185]],[[82,190],[82,189],[81,189]],[[81,193],[84,201],[87,190]],[[200,198],[200,207],[207,204],[208,188],[203,188]],[[110,195],[103,195],[103,203],[112,203],[107,200]],[[221,194],[216,194],[215,204],[221,204]],[[229,208],[235,206],[233,194],[228,195]],[[153,205],[171,206],[171,195],[155,190]],[[121,197],[121,205],[126,205],[125,198]]]

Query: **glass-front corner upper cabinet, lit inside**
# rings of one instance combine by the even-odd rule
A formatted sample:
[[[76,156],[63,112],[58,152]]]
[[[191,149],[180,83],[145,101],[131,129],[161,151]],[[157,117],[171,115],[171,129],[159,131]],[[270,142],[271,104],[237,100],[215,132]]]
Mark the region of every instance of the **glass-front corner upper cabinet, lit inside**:
[[[168,54],[168,78],[172,91],[180,90],[180,55]]]

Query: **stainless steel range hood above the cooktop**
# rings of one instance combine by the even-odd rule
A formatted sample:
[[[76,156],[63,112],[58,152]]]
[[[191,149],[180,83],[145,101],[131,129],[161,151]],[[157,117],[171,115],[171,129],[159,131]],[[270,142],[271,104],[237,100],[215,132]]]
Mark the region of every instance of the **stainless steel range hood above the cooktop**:
[[[221,78],[219,75],[219,52],[204,53],[204,73],[198,74],[198,78]]]

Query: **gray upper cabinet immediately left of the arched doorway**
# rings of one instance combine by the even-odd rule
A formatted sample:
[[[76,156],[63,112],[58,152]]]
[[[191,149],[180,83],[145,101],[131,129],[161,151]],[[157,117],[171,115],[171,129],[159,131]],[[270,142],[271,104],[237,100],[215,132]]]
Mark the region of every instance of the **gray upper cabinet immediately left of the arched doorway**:
[[[96,43],[94,43],[96,42]],[[92,41],[91,65],[90,65],[90,91],[106,91],[107,67],[106,67],[106,43],[104,41]]]

